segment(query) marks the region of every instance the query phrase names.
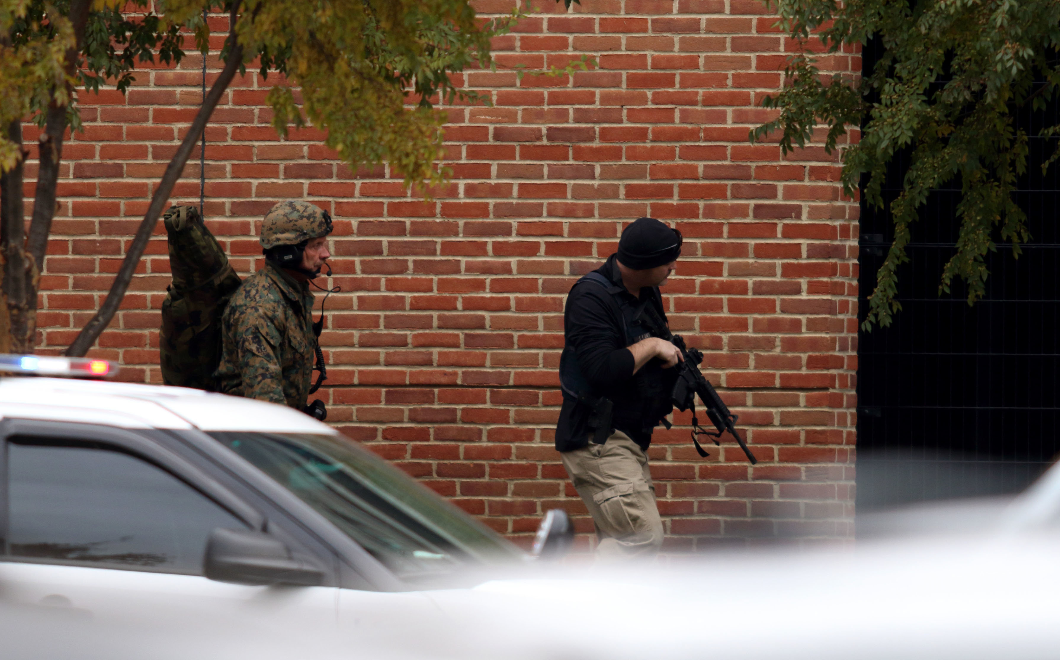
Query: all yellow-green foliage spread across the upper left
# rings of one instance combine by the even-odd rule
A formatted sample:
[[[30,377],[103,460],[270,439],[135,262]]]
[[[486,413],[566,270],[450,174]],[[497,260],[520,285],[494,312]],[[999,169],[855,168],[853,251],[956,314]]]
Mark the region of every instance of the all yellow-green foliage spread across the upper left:
[[[95,0],[81,36],[74,76],[65,76],[64,58],[73,48],[71,0],[0,0],[0,125],[35,115],[55,100],[80,126],[69,87],[98,90],[104,81],[120,91],[131,84],[137,61],[179,63],[181,28],[195,30],[204,49],[209,28],[204,8],[231,11],[233,3],[170,0],[151,11],[135,0],[140,15],[118,7],[125,2]],[[326,144],[351,166],[390,162],[406,184],[440,183],[434,163],[441,156],[445,115],[434,108],[444,99],[478,100],[454,85],[453,73],[491,65],[490,38],[522,16],[477,21],[467,0],[247,0],[236,2],[235,34],[243,61],[257,57],[261,73],[280,73],[267,103],[272,125],[286,135],[290,125],[328,130]],[[223,56],[227,56],[229,42]],[[66,85],[63,83],[70,83]],[[302,99],[296,97],[300,88]],[[407,105],[409,99],[413,101]],[[16,149],[0,136],[0,170],[14,163]]]

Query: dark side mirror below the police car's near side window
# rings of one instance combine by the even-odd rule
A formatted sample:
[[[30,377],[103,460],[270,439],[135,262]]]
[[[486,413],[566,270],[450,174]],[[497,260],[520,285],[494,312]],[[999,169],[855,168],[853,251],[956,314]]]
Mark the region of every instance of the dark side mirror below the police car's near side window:
[[[277,537],[224,528],[210,533],[202,569],[210,579],[241,585],[316,587],[324,578],[319,567],[293,557],[287,546]]]

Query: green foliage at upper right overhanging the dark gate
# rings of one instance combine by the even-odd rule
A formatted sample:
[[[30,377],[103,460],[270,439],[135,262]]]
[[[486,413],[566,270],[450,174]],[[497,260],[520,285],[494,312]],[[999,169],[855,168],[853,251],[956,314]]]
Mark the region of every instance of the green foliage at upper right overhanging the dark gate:
[[[779,24],[809,46],[819,37],[829,53],[844,46],[882,40],[885,53],[860,78],[824,75],[807,48],[788,63],[789,85],[765,100],[778,118],[750,131],[761,140],[780,131],[787,154],[805,146],[816,126],[827,129],[832,151],[847,126],[861,140],[844,146],[842,181],[848,195],[867,175],[864,195],[882,208],[886,166],[899,151],[911,154],[903,190],[890,203],[895,240],[869,297],[866,329],[888,325],[901,309],[897,268],[908,261],[909,226],[933,189],[959,181],[960,231],[956,252],[941,273],[940,291],[954,279],[968,285],[968,303],[985,293],[984,256],[1003,240],[1028,240],[1025,215],[1012,199],[1027,167],[1027,135],[1014,123],[1018,108],[1036,110],[1060,85],[1060,2],[1057,0],[767,0]],[[1056,136],[1060,126],[1044,129]],[[1057,158],[1055,153],[1043,168]]]

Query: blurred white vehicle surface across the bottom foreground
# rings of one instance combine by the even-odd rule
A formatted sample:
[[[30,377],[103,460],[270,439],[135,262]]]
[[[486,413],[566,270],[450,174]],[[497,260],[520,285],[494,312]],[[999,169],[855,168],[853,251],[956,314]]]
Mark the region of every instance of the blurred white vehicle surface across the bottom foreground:
[[[881,542],[404,593],[75,568],[48,583],[6,564],[0,639],[5,660],[1044,659],[1060,648],[1058,549],[1053,534]]]

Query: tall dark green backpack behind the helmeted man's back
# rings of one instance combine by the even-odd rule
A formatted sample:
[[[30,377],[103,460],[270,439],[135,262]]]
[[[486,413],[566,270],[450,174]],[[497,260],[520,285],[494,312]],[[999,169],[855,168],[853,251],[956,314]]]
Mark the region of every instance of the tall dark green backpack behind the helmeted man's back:
[[[162,381],[215,390],[220,363],[220,317],[242,281],[195,207],[170,207],[169,234],[173,284],[162,301]]]

